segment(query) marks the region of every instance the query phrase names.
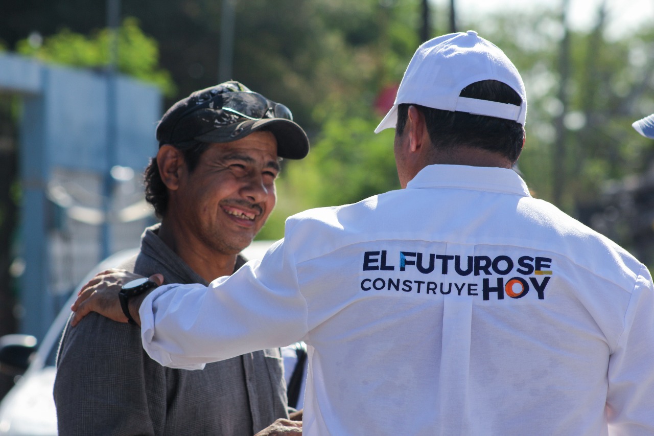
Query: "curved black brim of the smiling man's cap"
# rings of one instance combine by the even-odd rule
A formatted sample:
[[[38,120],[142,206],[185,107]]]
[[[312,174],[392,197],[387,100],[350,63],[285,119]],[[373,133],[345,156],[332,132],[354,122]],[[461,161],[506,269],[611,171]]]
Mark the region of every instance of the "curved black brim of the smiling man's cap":
[[[277,139],[277,156],[286,159],[301,159],[309,154],[309,138],[299,124],[286,118],[262,118],[245,120],[221,126],[194,137],[203,142],[230,142],[248,136],[252,132],[265,130]]]

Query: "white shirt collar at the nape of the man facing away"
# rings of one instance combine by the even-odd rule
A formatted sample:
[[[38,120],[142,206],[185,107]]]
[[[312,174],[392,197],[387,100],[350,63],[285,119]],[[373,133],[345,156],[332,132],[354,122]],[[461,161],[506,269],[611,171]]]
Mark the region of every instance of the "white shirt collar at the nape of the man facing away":
[[[407,183],[407,189],[459,188],[530,197],[525,181],[508,168],[428,165]]]

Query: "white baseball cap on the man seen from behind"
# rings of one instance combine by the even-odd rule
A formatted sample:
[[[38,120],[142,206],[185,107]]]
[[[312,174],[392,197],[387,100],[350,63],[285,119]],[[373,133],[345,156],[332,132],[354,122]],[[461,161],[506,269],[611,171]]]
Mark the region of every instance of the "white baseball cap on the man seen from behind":
[[[459,96],[469,84],[486,80],[511,86],[523,103],[516,106]],[[430,39],[418,47],[404,73],[393,107],[375,133],[395,128],[400,103],[505,118],[523,126],[527,114],[525,84],[517,68],[498,46],[473,30]]]

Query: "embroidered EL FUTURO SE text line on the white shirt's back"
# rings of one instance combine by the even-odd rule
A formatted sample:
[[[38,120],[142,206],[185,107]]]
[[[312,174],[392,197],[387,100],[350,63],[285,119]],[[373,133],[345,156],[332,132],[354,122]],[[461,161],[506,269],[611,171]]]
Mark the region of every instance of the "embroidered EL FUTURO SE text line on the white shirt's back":
[[[387,250],[364,251],[363,270],[364,271],[394,271],[395,265],[389,263]],[[551,275],[552,259],[549,257],[539,256],[521,256],[517,261],[506,255],[499,255],[494,258],[489,256],[458,256],[458,255],[438,255],[435,253],[420,253],[416,251],[400,251],[399,270],[406,271],[407,267],[411,270],[430,274],[440,266],[440,274],[457,274],[458,276],[479,276],[485,274],[492,276],[498,274],[506,276],[511,273],[530,276],[535,274]],[[436,270],[438,271],[438,270]],[[515,274],[514,273],[514,274]]]

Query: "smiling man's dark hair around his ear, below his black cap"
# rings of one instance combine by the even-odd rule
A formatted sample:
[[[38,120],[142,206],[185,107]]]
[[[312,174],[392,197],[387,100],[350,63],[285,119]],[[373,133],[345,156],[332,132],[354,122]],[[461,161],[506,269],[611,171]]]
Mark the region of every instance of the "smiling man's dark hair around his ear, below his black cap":
[[[200,141],[188,141],[170,145],[182,152],[186,168],[188,168],[189,173],[192,173],[198,167],[200,156],[207,151],[210,144]],[[143,181],[145,183],[145,200],[152,204],[154,213],[163,218],[168,209],[168,189],[163,184],[156,157],[151,158],[150,163],[145,168]]]

